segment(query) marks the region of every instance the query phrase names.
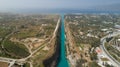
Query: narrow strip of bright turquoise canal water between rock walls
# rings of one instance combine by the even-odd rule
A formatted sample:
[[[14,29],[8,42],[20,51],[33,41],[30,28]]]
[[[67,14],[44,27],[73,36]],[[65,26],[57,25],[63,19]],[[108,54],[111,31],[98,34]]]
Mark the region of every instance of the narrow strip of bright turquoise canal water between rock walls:
[[[65,30],[64,30],[64,15],[61,15],[61,54],[60,54],[60,62],[58,63],[58,67],[69,67],[68,61],[66,59],[66,50],[65,50]]]

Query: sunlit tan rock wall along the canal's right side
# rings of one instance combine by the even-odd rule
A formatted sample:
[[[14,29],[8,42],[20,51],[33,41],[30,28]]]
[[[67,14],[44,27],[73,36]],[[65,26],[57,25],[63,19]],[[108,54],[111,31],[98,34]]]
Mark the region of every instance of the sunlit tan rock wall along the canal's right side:
[[[65,37],[66,37],[66,51],[67,59],[69,61],[70,67],[78,67],[77,63],[80,59],[79,48],[76,47],[75,40],[71,34],[68,22],[65,21]]]

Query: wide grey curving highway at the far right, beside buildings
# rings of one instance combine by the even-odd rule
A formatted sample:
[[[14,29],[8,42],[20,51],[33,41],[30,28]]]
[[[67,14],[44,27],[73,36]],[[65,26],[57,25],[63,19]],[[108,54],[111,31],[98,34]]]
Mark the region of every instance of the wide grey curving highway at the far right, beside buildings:
[[[105,48],[105,42],[106,42],[106,38],[110,38],[110,37],[114,37],[114,36],[117,36],[117,35],[120,35],[120,32],[115,32],[115,33],[112,33],[112,34],[109,34],[103,38],[101,38],[101,45],[100,45],[100,48],[102,49],[103,53],[109,58],[109,60],[117,67],[120,66],[120,62],[118,62],[115,58],[113,58],[109,52],[107,51],[107,49]]]

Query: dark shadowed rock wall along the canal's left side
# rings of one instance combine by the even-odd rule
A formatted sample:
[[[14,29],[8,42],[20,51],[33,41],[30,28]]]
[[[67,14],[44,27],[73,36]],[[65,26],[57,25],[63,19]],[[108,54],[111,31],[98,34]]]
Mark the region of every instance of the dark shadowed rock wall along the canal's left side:
[[[60,35],[61,35],[61,21],[58,22],[58,27],[55,29],[56,32],[54,33],[54,38],[51,41],[51,54],[48,56],[47,59],[43,61],[44,67],[57,67],[60,57]]]

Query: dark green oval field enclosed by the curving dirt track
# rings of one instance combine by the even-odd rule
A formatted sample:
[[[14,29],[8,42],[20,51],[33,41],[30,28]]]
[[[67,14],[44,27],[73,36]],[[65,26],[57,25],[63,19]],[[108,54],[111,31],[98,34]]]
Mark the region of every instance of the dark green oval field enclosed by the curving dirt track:
[[[3,45],[5,52],[11,57],[23,58],[29,55],[27,48],[23,44],[14,43],[6,40]]]

